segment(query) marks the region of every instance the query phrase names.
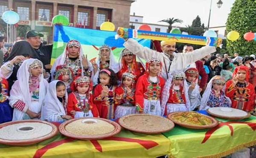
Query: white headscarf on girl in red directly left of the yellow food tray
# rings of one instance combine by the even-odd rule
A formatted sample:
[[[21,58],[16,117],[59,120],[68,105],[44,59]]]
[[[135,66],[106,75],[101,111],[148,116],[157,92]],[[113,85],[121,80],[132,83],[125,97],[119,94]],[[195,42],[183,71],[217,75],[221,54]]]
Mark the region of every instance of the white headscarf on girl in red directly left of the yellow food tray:
[[[169,78],[166,80],[166,83],[164,85],[163,91],[162,91],[162,101],[161,101],[161,110],[162,110],[162,115],[165,112],[165,108],[166,108],[166,104],[168,102],[169,96],[170,96],[170,88],[172,86],[172,78],[173,76],[175,76],[175,74],[177,73],[184,73],[182,70],[176,70],[176,71],[172,71],[172,73],[168,74]],[[185,75],[185,74],[184,74]],[[191,108],[191,104],[190,104],[190,100],[189,100],[189,86],[186,82],[186,79],[183,80],[183,90],[184,90],[184,94],[185,94],[185,99],[186,99],[186,108],[187,111],[190,110]]]

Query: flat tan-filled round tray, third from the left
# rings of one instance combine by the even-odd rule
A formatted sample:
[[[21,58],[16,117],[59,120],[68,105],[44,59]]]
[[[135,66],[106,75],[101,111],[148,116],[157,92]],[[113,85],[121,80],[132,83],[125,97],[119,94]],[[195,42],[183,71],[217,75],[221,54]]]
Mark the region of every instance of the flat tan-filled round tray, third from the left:
[[[130,114],[119,118],[127,130],[144,134],[157,134],[172,130],[174,123],[167,118],[149,114]]]

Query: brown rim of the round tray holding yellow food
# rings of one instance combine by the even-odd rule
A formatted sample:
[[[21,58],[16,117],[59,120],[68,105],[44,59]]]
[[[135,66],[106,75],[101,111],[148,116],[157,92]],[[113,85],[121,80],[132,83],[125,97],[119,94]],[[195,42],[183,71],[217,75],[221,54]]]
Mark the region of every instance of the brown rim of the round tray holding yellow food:
[[[191,128],[191,129],[205,129],[205,128],[212,128],[212,127],[215,127],[218,125],[218,121],[215,120],[214,118],[210,117],[210,116],[207,116],[207,115],[204,115],[204,114],[201,114],[201,115],[204,115],[205,117],[209,118],[212,120],[212,124],[210,125],[193,125],[193,124],[185,124],[185,123],[182,123],[182,122],[178,122],[178,121],[175,121],[173,120],[171,117],[172,115],[176,114],[176,113],[183,113],[183,112],[173,112],[173,113],[169,113],[166,117],[169,118],[170,120],[172,120],[175,124],[178,124],[182,127],[186,127],[186,128]]]

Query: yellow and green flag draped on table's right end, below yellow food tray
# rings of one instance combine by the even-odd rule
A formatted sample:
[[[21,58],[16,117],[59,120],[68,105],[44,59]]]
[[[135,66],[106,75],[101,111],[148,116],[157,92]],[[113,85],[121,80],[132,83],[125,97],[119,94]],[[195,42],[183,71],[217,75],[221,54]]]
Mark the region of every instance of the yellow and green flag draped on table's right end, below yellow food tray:
[[[204,113],[206,114],[206,113]],[[176,126],[169,138],[170,158],[221,158],[256,144],[256,117],[239,121],[216,118],[218,126],[196,130]]]

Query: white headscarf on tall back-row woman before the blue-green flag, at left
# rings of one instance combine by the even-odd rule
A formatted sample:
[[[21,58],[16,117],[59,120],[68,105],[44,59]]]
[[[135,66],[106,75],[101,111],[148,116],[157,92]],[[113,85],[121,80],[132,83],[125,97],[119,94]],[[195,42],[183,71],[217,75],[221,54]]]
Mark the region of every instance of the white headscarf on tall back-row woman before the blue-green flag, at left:
[[[70,41],[76,41],[76,40],[70,40]],[[70,42],[69,41],[69,42]],[[60,56],[58,56],[58,58],[54,61],[54,63],[53,63],[53,65],[52,65],[52,69],[51,69],[51,76],[52,76],[52,80],[54,80],[54,77],[53,77],[53,75],[54,75],[54,73],[55,73],[55,70],[56,70],[56,67],[58,66],[58,65],[64,65],[64,62],[65,62],[65,60],[68,58],[68,50],[67,50],[67,48],[68,48],[68,43],[69,42],[67,42],[67,45],[66,45],[66,47],[65,47],[65,49],[64,49],[64,51],[63,51],[63,53],[60,55]],[[78,42],[78,41],[77,41]],[[80,44],[80,43],[79,43]],[[80,59],[80,63],[81,63],[81,76],[84,76],[84,67],[83,67],[83,64],[82,64],[82,59],[83,59],[83,55],[84,55],[84,51],[83,51],[83,49],[82,49],[82,47],[81,47],[81,45],[80,45],[80,49],[79,49],[79,59]],[[93,73],[93,66],[92,66],[92,64],[90,63],[90,61],[87,59],[87,63],[88,63],[88,66],[89,66],[89,69],[90,69],[90,71]],[[93,74],[92,74],[92,76],[93,76]]]

